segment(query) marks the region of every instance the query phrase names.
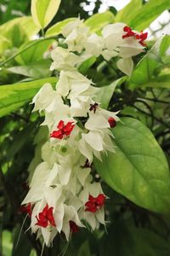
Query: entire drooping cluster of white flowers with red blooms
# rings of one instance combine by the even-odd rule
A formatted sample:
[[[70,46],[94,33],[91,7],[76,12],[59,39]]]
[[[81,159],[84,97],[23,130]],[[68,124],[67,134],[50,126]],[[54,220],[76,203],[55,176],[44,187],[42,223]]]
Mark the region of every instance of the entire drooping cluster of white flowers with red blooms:
[[[31,217],[31,231],[43,236],[47,246],[58,232],[68,240],[86,223],[92,230],[105,224],[106,196],[91,171],[94,157],[102,160],[102,154],[115,152],[111,128],[119,118],[100,108],[97,88],[78,67],[91,56],[103,55],[107,61],[119,56],[117,67],[130,74],[132,56],[144,50],[147,35],[116,23],[105,26],[98,36],[76,20],[63,28],[62,36],[67,48],[56,46],[51,51],[50,69],[59,72],[56,89],[44,84],[32,101],[34,111],[44,113],[48,138],[40,143],[41,161],[31,173],[22,203]]]

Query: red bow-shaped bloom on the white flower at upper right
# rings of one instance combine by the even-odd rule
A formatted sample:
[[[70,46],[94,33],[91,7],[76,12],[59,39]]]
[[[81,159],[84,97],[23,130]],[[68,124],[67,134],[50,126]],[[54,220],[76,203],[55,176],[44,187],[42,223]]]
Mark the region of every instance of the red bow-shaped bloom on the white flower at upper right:
[[[122,38],[136,38],[137,40],[139,40],[139,44],[142,44],[142,46],[146,46],[146,44],[144,43],[144,40],[148,37],[148,33],[145,32],[143,33],[143,31],[141,31],[139,34],[135,33],[132,31],[131,27],[128,26],[124,26],[123,28],[124,32],[127,32],[125,35],[122,36]]]

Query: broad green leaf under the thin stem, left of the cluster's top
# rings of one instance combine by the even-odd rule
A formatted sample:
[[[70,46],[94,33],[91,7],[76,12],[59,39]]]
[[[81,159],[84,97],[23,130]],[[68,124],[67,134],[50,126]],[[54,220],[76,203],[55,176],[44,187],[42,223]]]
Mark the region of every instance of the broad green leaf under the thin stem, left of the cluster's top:
[[[20,65],[28,65],[38,61],[44,61],[43,54],[48,50],[49,46],[53,42],[53,39],[39,39],[22,44],[18,51],[20,52],[23,50],[23,52],[15,59]]]

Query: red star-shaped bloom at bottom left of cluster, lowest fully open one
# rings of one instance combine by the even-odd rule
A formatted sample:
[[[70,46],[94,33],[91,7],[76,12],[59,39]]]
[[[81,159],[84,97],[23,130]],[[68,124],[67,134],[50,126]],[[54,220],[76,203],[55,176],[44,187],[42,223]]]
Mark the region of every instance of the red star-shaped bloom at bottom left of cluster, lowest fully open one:
[[[56,227],[54,216],[53,216],[54,207],[49,207],[48,204],[43,208],[42,212],[39,212],[37,218],[37,225],[42,228],[47,228],[48,224]]]

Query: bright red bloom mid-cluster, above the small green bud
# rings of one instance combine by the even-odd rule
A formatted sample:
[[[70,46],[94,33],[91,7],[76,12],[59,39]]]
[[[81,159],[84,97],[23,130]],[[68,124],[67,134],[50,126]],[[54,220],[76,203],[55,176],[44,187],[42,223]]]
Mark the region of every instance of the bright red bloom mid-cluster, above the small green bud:
[[[62,139],[63,137],[70,136],[71,131],[74,129],[75,125],[73,125],[73,122],[68,122],[66,125],[63,120],[59,121],[59,124],[57,125],[58,130],[53,131],[50,134],[50,137]]]

